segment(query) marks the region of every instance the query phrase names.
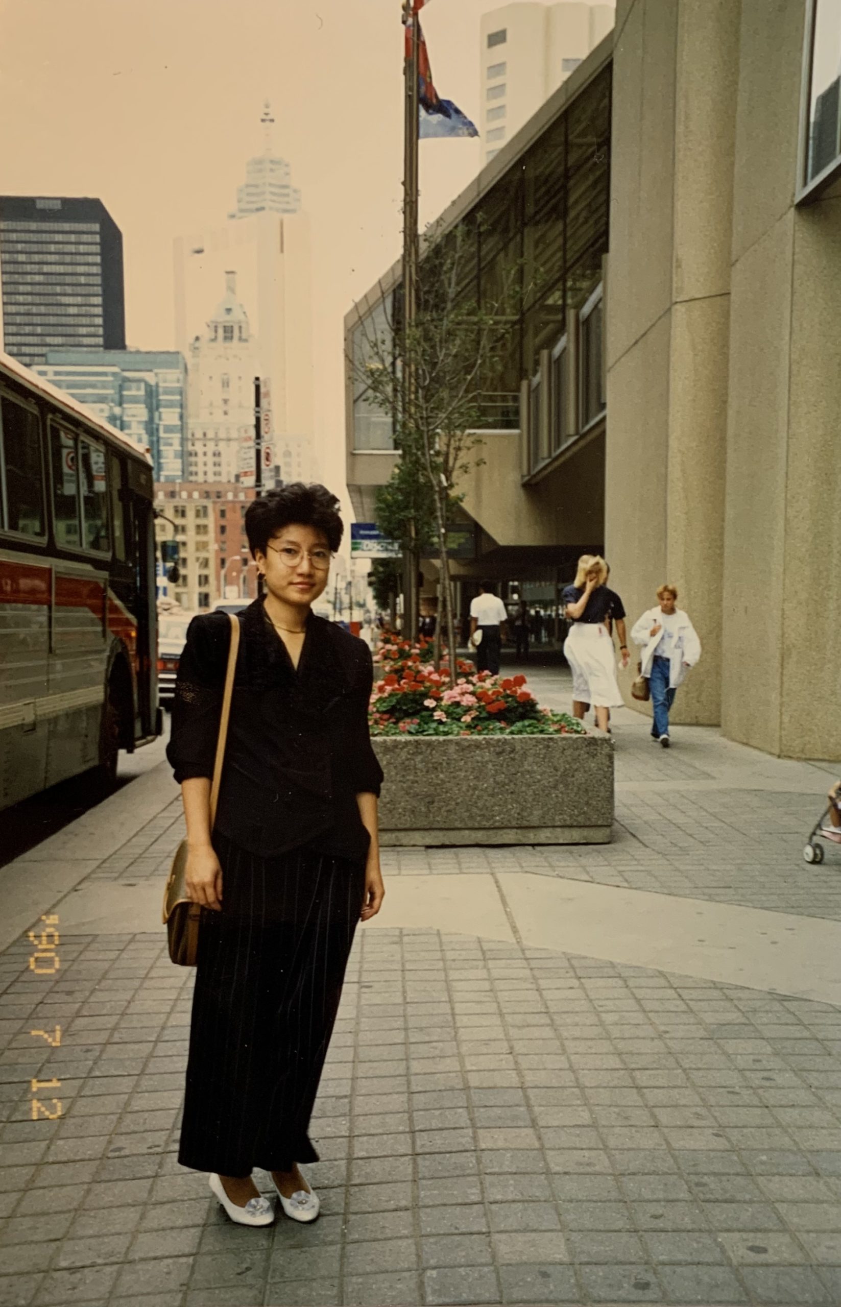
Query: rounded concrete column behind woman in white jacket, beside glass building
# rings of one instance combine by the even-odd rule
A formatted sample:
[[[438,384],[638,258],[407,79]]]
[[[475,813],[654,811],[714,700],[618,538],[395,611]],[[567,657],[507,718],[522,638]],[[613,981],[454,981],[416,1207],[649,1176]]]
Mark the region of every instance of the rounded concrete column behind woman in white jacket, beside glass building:
[[[629,0],[616,33],[606,549],[632,621],[678,586],[704,656],[675,718],[714,724],[739,0]]]

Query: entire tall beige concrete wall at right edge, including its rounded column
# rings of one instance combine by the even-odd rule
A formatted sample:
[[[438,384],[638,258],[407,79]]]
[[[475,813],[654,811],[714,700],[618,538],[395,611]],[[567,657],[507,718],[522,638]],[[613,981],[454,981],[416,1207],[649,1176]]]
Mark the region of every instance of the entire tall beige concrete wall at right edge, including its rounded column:
[[[704,657],[679,719],[812,758],[841,757],[829,8],[620,0],[607,278],[617,588],[680,587]]]

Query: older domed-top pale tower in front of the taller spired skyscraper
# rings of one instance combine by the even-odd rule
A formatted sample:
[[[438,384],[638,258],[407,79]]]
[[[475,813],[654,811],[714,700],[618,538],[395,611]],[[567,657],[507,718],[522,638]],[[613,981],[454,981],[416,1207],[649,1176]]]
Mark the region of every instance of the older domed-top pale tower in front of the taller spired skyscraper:
[[[237,299],[237,273],[225,273],[225,295],[188,354],[187,476],[235,481],[254,450],[256,342]]]

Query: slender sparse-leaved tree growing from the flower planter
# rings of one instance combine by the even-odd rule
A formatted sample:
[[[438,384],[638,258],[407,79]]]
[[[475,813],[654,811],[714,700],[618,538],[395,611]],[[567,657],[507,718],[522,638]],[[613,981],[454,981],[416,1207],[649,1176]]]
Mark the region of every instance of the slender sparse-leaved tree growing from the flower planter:
[[[494,388],[515,299],[522,294],[519,263],[511,263],[497,278],[493,301],[483,297],[480,303],[475,260],[476,233],[466,223],[441,238],[434,233],[425,237],[413,322],[407,328],[395,322],[383,295],[386,311],[378,328],[360,314],[362,348],[348,361],[369,401],[390,416],[400,452],[392,478],[378,491],[377,523],[403,548],[408,546],[409,520],[422,544],[429,546],[434,540],[437,629],[446,629],[453,682],[456,643],[447,527],[464,498],[459,480],[483,461],[488,392]]]

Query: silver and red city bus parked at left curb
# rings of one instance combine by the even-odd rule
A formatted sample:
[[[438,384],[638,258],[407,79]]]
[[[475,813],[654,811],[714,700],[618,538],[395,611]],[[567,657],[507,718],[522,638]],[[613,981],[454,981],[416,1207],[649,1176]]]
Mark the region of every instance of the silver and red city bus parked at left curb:
[[[0,809],[161,733],[148,452],[0,352]]]

